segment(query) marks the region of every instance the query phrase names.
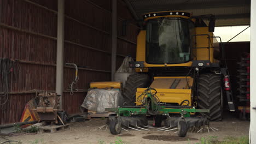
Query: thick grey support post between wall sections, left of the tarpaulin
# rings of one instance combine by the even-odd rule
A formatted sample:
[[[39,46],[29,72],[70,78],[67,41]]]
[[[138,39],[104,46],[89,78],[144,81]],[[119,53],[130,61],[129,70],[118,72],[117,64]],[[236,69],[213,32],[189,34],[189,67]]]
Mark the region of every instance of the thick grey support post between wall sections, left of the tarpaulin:
[[[57,58],[56,58],[56,93],[60,97],[60,109],[62,109],[63,92],[63,61],[64,61],[64,0],[58,0],[57,14]]]

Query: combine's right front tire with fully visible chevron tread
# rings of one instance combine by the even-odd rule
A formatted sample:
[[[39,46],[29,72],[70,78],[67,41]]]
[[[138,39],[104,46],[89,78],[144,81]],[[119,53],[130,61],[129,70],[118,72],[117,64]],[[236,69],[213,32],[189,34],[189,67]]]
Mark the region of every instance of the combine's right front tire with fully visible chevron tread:
[[[198,82],[198,106],[200,109],[209,109],[204,113],[210,121],[222,121],[222,81],[217,74],[201,74]]]

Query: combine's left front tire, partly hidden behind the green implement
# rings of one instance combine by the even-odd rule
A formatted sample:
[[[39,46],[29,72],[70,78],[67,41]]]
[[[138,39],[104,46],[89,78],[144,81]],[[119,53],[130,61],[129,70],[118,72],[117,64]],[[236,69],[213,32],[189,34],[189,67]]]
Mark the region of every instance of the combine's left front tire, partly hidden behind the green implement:
[[[149,86],[149,76],[147,74],[132,74],[125,83],[123,97],[124,105],[135,105],[137,88]]]

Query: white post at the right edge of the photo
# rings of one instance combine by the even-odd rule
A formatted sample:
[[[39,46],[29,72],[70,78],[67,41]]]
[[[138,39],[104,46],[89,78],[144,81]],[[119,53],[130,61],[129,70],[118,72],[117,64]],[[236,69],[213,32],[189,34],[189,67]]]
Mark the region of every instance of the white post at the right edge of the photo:
[[[256,143],[256,1],[251,1],[251,48],[250,48],[250,100],[251,100],[251,123],[250,123],[250,143]]]

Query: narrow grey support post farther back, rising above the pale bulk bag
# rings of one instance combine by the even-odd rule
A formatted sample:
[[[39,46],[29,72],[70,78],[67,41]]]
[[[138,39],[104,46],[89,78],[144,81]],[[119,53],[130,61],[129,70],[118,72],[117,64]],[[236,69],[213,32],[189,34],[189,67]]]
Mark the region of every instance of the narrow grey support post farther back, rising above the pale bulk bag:
[[[112,55],[111,55],[111,80],[114,81],[114,74],[117,63],[117,0],[112,0]]]

